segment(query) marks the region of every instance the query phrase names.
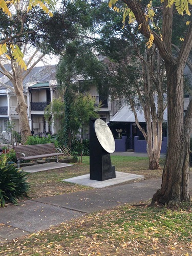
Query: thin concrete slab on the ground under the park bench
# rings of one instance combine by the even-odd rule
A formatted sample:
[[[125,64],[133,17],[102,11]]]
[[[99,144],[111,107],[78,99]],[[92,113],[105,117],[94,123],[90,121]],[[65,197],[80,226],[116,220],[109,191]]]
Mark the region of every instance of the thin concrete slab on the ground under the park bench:
[[[36,172],[41,172],[42,170],[51,170],[51,169],[68,167],[68,166],[73,166],[73,164],[51,162],[51,163],[44,163],[44,164],[36,164],[33,166],[25,166],[25,167],[22,167],[22,169],[24,170],[24,172],[27,172],[27,173],[36,173]]]

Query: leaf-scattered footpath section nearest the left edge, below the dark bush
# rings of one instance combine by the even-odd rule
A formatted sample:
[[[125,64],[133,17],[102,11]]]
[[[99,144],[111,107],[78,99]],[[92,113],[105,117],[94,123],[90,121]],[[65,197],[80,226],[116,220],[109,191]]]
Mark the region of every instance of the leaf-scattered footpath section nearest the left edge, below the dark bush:
[[[8,207],[0,208],[2,223],[0,226],[0,237],[4,238],[6,233],[9,233],[11,237],[13,231],[19,234],[22,232],[23,236],[25,236],[29,232],[45,230],[50,226],[56,226],[82,215],[82,212],[27,200],[19,205],[9,205]]]

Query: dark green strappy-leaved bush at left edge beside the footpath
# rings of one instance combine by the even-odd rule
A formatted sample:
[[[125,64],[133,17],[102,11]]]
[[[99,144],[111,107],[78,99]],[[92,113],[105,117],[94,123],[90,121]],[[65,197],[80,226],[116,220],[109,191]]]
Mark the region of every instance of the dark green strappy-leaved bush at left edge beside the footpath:
[[[7,163],[4,156],[0,160],[0,206],[4,207],[6,202],[16,204],[19,198],[28,197],[29,184],[27,173]]]

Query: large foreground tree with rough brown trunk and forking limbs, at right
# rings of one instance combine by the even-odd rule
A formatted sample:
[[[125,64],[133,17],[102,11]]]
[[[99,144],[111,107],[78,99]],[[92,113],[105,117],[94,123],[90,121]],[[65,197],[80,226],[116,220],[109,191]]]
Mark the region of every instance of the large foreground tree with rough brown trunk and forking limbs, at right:
[[[165,61],[167,75],[168,99],[168,148],[163,170],[162,185],[153,197],[152,203],[177,204],[187,202],[189,197],[189,135],[192,122],[192,101],[190,101],[183,118],[183,70],[192,48],[192,22],[188,26],[178,57],[172,53],[172,25],[174,5],[167,7],[168,0],[163,2],[162,38],[150,30],[146,22],[145,9],[137,0],[122,0],[135,14],[138,25],[142,24],[140,32],[150,38]]]

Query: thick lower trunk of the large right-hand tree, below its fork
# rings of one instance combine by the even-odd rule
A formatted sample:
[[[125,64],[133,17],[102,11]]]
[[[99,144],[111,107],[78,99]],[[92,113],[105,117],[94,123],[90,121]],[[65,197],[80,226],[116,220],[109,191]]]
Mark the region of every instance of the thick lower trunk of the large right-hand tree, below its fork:
[[[189,134],[183,129],[183,72],[166,65],[168,98],[168,148],[161,188],[152,203],[177,205],[189,197]]]

